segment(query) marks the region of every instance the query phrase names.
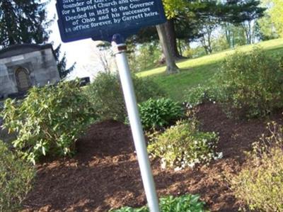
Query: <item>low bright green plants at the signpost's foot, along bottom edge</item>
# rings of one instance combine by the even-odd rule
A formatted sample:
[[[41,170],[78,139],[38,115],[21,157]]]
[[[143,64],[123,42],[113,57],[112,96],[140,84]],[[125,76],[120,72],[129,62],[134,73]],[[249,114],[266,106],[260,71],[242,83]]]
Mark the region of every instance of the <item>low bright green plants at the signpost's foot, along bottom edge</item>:
[[[186,194],[179,197],[166,196],[160,199],[161,212],[205,212],[204,202],[200,201],[199,195]],[[111,212],[149,212],[149,208],[125,207]]]

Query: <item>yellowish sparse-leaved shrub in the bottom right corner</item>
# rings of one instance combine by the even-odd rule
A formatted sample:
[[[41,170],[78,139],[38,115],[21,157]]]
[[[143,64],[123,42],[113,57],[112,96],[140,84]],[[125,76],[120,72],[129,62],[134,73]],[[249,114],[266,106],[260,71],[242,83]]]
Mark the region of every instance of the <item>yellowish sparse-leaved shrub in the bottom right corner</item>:
[[[238,175],[228,176],[235,196],[250,210],[283,211],[283,127],[269,125],[272,134],[262,136],[248,153]]]

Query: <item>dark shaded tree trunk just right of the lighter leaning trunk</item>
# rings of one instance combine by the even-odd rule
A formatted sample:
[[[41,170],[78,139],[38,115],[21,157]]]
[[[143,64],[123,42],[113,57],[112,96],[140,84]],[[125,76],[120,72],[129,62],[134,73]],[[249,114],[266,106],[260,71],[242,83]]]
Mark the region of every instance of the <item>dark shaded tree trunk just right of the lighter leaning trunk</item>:
[[[173,19],[166,21],[164,26],[168,38],[168,45],[171,49],[173,57],[175,58],[175,60],[183,59],[184,57],[182,57],[182,55],[180,55],[180,52],[178,51],[177,38],[175,33],[175,23]]]

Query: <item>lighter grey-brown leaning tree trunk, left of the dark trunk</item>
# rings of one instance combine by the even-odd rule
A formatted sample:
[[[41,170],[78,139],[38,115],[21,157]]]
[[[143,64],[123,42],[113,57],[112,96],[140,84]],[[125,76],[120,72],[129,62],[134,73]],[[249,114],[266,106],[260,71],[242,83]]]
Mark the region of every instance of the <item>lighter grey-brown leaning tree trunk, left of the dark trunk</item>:
[[[163,54],[165,55],[165,60],[166,60],[166,72],[168,74],[174,74],[174,73],[178,73],[180,70],[177,67],[177,65],[175,64],[175,59],[173,57],[173,54],[171,52],[171,48],[168,45],[168,38],[167,38],[167,34],[166,34],[166,27],[165,27],[165,23],[156,26],[157,32],[158,32],[158,36],[159,36],[159,40],[162,46],[162,50],[163,50]]]

